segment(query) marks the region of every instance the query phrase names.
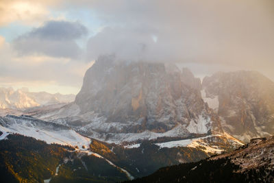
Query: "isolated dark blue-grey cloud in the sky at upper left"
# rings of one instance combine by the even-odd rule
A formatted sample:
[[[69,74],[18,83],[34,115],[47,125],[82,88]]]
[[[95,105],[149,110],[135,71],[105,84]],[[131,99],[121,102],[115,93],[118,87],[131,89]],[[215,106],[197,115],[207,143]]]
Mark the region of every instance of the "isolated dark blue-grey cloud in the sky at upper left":
[[[79,58],[82,50],[75,40],[86,35],[79,22],[48,21],[42,27],[16,38],[13,47],[22,56],[37,54],[58,58]]]

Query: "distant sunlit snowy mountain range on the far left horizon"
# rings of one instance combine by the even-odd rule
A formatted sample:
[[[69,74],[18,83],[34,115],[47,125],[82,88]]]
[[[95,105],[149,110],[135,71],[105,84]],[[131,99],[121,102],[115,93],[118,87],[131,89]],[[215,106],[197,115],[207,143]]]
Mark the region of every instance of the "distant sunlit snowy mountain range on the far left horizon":
[[[21,110],[37,106],[46,106],[56,103],[69,103],[75,99],[74,95],[50,94],[46,92],[32,93],[27,88],[14,90],[0,88],[0,109]]]

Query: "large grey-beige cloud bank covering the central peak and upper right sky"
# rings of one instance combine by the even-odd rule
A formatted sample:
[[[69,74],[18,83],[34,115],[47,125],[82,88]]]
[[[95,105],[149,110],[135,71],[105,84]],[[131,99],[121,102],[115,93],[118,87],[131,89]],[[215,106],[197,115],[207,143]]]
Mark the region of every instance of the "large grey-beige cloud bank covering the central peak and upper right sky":
[[[88,56],[114,52],[121,60],[218,64],[274,78],[273,2],[84,1],[106,25],[88,41]]]

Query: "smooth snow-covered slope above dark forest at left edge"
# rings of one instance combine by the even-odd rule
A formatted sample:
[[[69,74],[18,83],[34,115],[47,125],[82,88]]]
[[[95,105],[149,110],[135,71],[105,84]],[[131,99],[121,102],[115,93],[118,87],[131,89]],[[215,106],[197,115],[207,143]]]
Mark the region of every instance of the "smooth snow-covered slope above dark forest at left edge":
[[[49,144],[58,143],[60,145],[77,146],[79,149],[86,149],[90,145],[90,138],[78,134],[69,127],[48,123],[32,117],[12,115],[0,117],[0,131],[4,134],[17,133],[32,136]]]

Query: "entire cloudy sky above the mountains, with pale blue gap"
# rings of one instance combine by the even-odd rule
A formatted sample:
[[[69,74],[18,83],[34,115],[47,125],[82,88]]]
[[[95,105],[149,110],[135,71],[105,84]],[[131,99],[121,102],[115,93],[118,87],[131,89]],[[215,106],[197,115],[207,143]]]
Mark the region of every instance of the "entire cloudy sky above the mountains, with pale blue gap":
[[[274,81],[273,0],[1,0],[0,87],[77,94],[100,55]]]

